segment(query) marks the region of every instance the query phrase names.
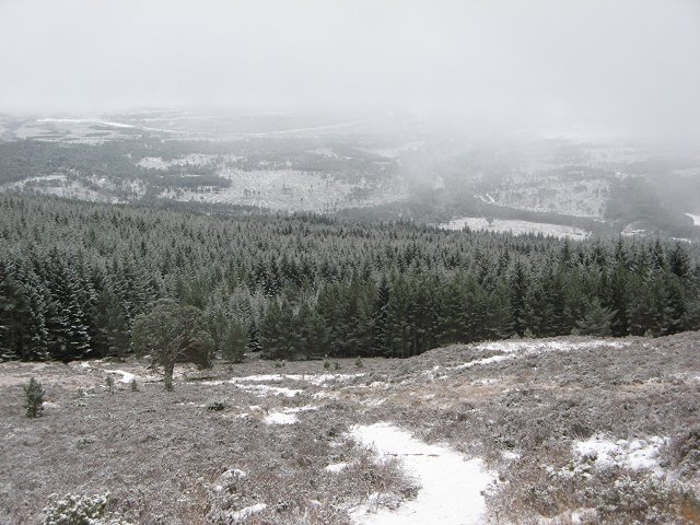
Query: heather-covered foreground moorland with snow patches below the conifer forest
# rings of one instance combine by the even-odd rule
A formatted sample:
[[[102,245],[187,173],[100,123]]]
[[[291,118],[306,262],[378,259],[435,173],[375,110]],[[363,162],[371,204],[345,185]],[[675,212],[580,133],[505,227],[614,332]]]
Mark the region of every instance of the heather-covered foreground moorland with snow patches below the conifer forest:
[[[113,517],[145,524],[700,523],[699,347],[687,332],[249,357],[178,366],[172,393],[135,359],[2,363],[0,523],[105,491]]]

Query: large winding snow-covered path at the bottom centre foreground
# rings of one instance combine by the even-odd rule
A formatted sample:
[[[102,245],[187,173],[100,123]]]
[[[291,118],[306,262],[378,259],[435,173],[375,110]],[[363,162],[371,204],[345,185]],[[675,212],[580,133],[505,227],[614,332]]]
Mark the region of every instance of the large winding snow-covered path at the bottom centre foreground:
[[[382,456],[396,456],[421,489],[416,500],[397,510],[363,504],[350,512],[358,525],[476,525],[483,523],[486,502],[481,491],[493,479],[480,459],[465,457],[446,446],[429,445],[388,423],[355,427],[354,440],[374,446]],[[372,500],[372,498],[370,498]]]

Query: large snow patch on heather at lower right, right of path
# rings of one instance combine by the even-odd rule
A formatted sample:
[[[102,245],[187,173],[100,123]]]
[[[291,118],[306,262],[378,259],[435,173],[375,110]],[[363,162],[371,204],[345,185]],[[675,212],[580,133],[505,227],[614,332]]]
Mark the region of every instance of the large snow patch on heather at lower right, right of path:
[[[603,435],[594,435],[572,445],[580,458],[591,458],[596,467],[622,466],[632,470],[653,470],[661,474],[658,457],[668,439],[651,436],[643,440],[612,441]]]

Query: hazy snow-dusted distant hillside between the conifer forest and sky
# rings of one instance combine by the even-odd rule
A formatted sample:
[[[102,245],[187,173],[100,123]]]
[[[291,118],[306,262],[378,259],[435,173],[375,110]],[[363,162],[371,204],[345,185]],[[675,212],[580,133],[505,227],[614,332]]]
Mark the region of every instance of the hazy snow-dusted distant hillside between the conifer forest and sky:
[[[697,158],[618,139],[487,140],[446,129],[399,115],[2,117],[0,189],[107,202],[700,234],[692,219],[700,215]]]

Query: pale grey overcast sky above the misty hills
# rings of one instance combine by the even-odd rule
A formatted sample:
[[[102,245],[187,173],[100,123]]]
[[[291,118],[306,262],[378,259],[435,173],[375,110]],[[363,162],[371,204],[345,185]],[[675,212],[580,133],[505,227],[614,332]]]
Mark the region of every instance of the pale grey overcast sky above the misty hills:
[[[0,0],[0,110],[150,105],[697,133],[700,1]]]

